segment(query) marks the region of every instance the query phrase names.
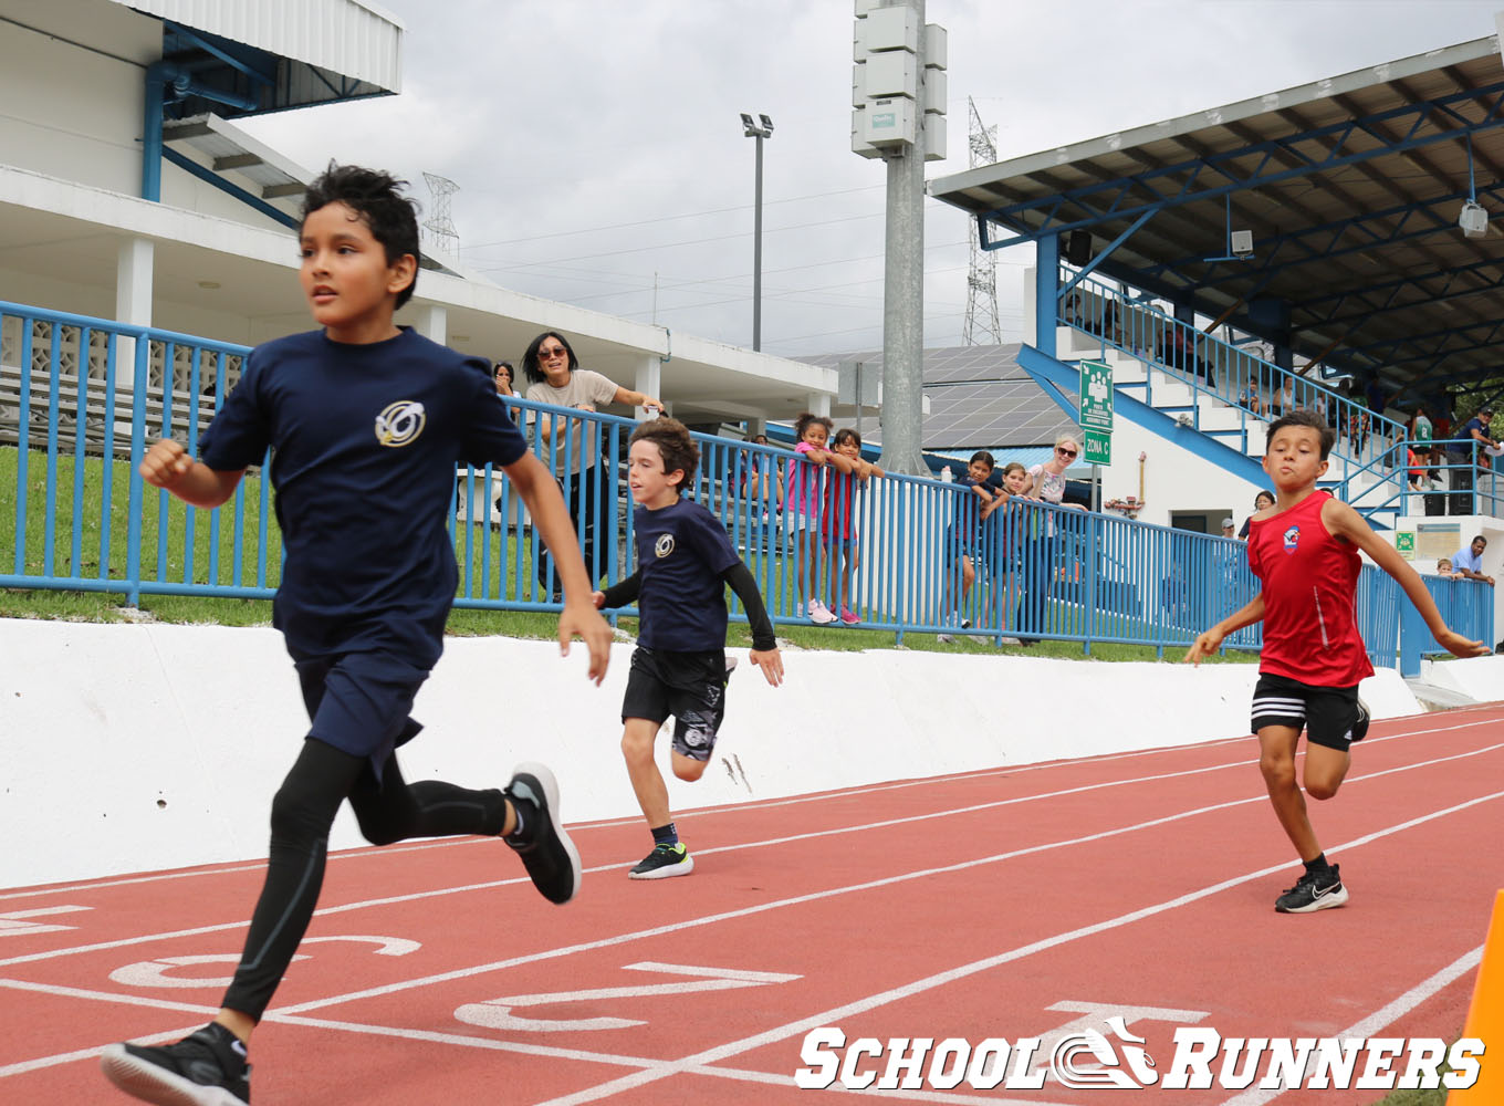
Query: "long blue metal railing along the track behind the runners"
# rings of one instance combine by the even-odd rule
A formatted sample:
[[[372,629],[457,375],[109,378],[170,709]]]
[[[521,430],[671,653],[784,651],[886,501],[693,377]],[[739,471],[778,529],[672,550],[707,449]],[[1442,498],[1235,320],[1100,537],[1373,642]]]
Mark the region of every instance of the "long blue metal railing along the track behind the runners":
[[[0,438],[9,433],[15,465],[12,518],[0,521],[0,542],[12,542],[9,555],[0,546],[0,567],[9,569],[0,587],[111,591],[131,603],[141,594],[271,597],[283,548],[262,469],[214,512],[190,509],[137,474],[158,436],[196,448],[247,352],[0,302]],[[593,578],[620,579],[635,560],[624,465],[635,423],[507,402],[566,486]],[[818,599],[899,641],[952,632],[1163,652],[1187,647],[1257,590],[1241,542],[1033,500],[1012,500],[984,519],[967,486],[904,476],[863,485],[779,447],[695,438],[701,465],[689,495],[725,525],[778,623],[808,623]],[[8,491],[0,486],[0,503]],[[448,518],[456,605],[558,608],[546,554],[501,472],[459,468]],[[1372,569],[1364,581],[1366,640],[1378,664],[1394,664],[1399,614],[1384,597],[1393,581]],[[1456,603],[1486,606],[1462,590]],[[743,617],[738,606],[732,614]],[[1254,626],[1227,646],[1259,641]]]

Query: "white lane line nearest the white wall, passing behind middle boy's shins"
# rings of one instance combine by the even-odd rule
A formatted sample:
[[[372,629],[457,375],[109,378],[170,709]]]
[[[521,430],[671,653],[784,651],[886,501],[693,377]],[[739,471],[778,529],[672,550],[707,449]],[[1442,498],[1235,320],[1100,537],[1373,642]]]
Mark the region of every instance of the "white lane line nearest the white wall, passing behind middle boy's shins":
[[[1478,712],[1478,710],[1493,710],[1493,712],[1496,712],[1496,707],[1454,707],[1454,709],[1447,710],[1444,713],[1448,718],[1451,718],[1451,716],[1456,716],[1459,713],[1469,713],[1469,712]],[[1438,712],[1438,713],[1442,713],[1442,712]],[[1429,715],[1415,715],[1415,718],[1429,718]],[[1381,742],[1399,740],[1399,739],[1403,739],[1403,737],[1418,737],[1418,736],[1430,734],[1430,733],[1445,733],[1448,730],[1469,730],[1472,727],[1483,725],[1486,721],[1504,721],[1504,719],[1480,719],[1480,721],[1475,721],[1475,722],[1463,722],[1463,724],[1459,724],[1459,725],[1429,727],[1429,728],[1421,728],[1421,730],[1402,730],[1400,733],[1382,734],[1382,736],[1375,734],[1375,736],[1370,736],[1366,743],[1370,745],[1370,746],[1373,746],[1373,745],[1379,745]],[[678,817],[690,819],[690,817],[705,817],[705,816],[711,816],[711,814],[725,814],[725,813],[750,811],[750,810],[775,810],[775,808],[779,808],[779,807],[794,807],[794,805],[800,805],[800,804],[829,802],[829,801],[835,801],[835,799],[848,799],[848,798],[854,798],[854,796],[874,795],[874,793],[880,793],[880,792],[896,792],[896,790],[905,790],[905,788],[913,788],[913,787],[945,785],[948,782],[967,781],[967,779],[988,779],[988,778],[994,778],[994,776],[1023,775],[1026,772],[1050,772],[1050,770],[1056,770],[1056,769],[1062,769],[1062,767],[1074,767],[1074,766],[1078,766],[1078,764],[1105,764],[1105,763],[1119,761],[1119,760],[1142,760],[1142,758],[1146,758],[1146,757],[1158,757],[1158,755],[1166,755],[1166,754],[1184,752],[1184,751],[1188,751],[1188,749],[1214,749],[1214,748],[1224,746],[1224,745],[1242,745],[1242,743],[1245,743],[1248,740],[1251,740],[1251,734],[1242,734],[1239,737],[1217,737],[1217,739],[1212,739],[1212,740],[1196,742],[1196,743],[1191,743],[1191,745],[1158,745],[1158,746],[1155,746],[1152,749],[1128,749],[1125,752],[1101,752],[1101,754],[1095,754],[1095,755],[1089,755],[1089,757],[1072,757],[1069,760],[1047,760],[1047,761],[1036,761],[1036,763],[1029,763],[1029,764],[1014,764],[1014,766],[1005,764],[1005,766],[1000,766],[1000,767],[981,769],[981,770],[976,770],[976,772],[957,772],[957,773],[952,773],[952,775],[942,775],[942,776],[923,776],[920,779],[895,779],[892,782],[884,782],[884,784],[868,784],[865,787],[850,787],[850,788],[844,788],[844,790],[838,790],[838,792],[820,792],[820,793],[815,793],[815,795],[794,795],[794,796],[788,796],[788,798],[784,798],[784,799],[767,799],[767,801],[763,801],[763,802],[741,802],[741,804],[729,804],[729,805],[725,805],[725,807],[699,807],[699,808],[687,810],[687,811],[684,811]],[[1236,766],[1241,766],[1241,764],[1245,764],[1245,763],[1247,761],[1239,760],[1239,761],[1232,761],[1229,764],[1223,764],[1221,767],[1236,767]],[[569,826],[573,831],[581,831],[581,829],[609,829],[609,828],[617,828],[617,826],[635,826],[638,822],[641,822],[641,819],[638,816],[632,816],[632,817],[624,817],[624,819],[606,819],[606,820],[600,820],[600,822],[579,822],[579,823],[572,822],[572,823],[569,823]],[[329,862],[344,861],[344,859],[359,859],[359,858],[367,858],[368,859],[368,858],[373,858],[373,856],[396,856],[396,855],[408,853],[408,852],[423,852],[423,850],[429,850],[429,849],[454,849],[454,847],[460,847],[460,846],[477,846],[477,844],[486,844],[486,840],[484,838],[475,838],[475,837],[463,837],[463,838],[441,838],[441,840],[435,840],[435,841],[421,841],[421,843],[414,843],[414,844],[394,844],[394,846],[379,846],[379,847],[378,846],[359,846],[359,847],[355,847],[355,849],[343,849],[343,850],[337,850],[337,852],[329,853]],[[137,883],[153,883],[156,880],[194,879],[197,876],[223,876],[223,874],[235,874],[235,873],[241,873],[241,871],[257,871],[257,870],[265,870],[265,868],[266,868],[266,861],[245,861],[245,862],[229,864],[229,865],[215,865],[215,867],[211,867],[211,868],[196,868],[193,871],[153,871],[153,873],[141,873],[141,874],[134,874],[134,876],[114,876],[114,877],[104,877],[104,879],[99,879],[99,880],[84,880],[81,883],[57,883],[57,885],[47,885],[47,886],[24,888],[24,889],[20,889],[20,891],[6,891],[6,892],[0,892],[0,901],[6,901],[6,900],[11,900],[11,898],[38,898],[38,897],[42,897],[42,895],[56,895],[56,894],[65,894],[65,892],[72,892],[72,891],[96,891],[96,889],[101,889],[101,888],[131,886],[131,885],[137,885]],[[487,885],[483,885],[483,886],[492,886],[492,885],[487,883]]]

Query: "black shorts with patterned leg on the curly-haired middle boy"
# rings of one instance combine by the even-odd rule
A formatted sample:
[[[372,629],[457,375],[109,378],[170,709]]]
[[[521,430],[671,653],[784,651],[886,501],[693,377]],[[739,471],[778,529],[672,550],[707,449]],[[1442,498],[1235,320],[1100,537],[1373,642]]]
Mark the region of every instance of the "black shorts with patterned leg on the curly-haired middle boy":
[[[726,668],[723,650],[674,653],[638,646],[632,653],[621,721],[645,718],[663,724],[674,715],[674,752],[690,760],[710,760],[716,734],[726,716]]]

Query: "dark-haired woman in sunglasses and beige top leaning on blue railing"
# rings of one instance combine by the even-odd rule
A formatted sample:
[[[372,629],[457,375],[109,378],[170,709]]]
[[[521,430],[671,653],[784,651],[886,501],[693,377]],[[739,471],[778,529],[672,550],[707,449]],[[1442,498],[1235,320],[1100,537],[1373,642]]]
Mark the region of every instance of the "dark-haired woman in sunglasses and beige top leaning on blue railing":
[[[526,399],[538,403],[579,411],[596,411],[602,403],[663,409],[663,403],[651,396],[581,369],[579,358],[558,331],[544,331],[532,339],[528,352],[522,355],[522,372],[528,378]],[[605,570],[605,564],[596,564],[596,528],[600,524],[602,501],[600,427],[593,420],[550,418],[543,411],[537,415],[537,426],[538,453],[564,485],[564,500],[579,530],[581,552],[585,554],[585,570],[591,581],[599,581]],[[549,596],[558,593],[553,558],[540,555],[537,572],[538,584],[547,588]]]

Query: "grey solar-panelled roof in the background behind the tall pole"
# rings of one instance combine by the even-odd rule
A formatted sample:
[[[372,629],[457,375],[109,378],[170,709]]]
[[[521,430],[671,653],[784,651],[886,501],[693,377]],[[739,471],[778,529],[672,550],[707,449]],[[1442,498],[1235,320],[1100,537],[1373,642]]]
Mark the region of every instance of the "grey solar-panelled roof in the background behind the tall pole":
[[[1078,433],[1075,423],[1018,367],[1018,343],[1006,346],[949,346],[926,349],[923,394],[929,400],[920,447],[932,451],[993,450],[1053,445],[1062,433]],[[835,369],[842,361],[881,367],[883,352],[824,354],[800,358]],[[872,420],[863,439],[881,441]]]

